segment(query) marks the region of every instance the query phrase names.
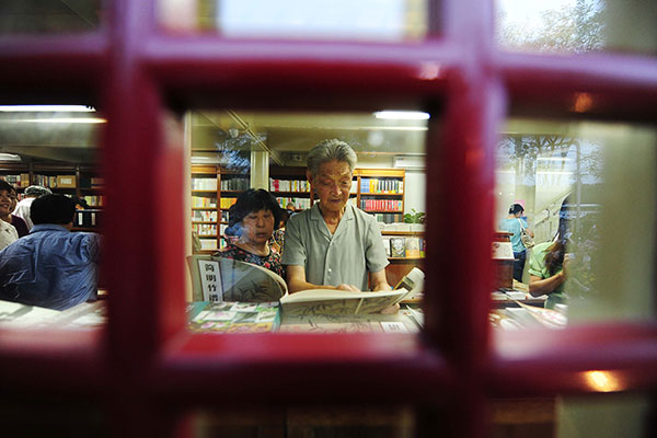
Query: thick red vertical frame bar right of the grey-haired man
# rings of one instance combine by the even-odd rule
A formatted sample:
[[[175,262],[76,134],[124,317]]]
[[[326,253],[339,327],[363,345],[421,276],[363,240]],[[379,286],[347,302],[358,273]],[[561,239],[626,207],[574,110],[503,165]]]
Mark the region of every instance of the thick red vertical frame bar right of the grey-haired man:
[[[442,16],[446,38],[463,53],[450,77],[442,119],[433,119],[429,129],[427,168],[439,171],[427,173],[426,334],[439,339],[454,371],[446,431],[481,437],[486,435],[485,373],[491,360],[494,148],[505,99],[487,68],[491,5],[446,2]]]

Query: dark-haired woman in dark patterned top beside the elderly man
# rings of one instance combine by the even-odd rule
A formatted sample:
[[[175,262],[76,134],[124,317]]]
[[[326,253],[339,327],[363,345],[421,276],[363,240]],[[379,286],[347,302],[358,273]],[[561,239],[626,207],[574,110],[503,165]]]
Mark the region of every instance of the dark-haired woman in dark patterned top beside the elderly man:
[[[229,210],[229,228],[237,239],[215,256],[253,263],[285,278],[280,253],[269,246],[269,239],[280,223],[283,209],[269,192],[250,188]]]

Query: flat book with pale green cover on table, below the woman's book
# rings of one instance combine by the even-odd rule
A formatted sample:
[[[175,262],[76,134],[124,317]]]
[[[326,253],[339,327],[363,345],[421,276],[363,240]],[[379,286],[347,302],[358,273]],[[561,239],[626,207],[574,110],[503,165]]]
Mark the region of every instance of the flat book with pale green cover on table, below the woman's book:
[[[193,304],[192,309],[188,306],[187,327],[194,332],[263,333],[274,332],[280,325],[278,301],[204,301]]]

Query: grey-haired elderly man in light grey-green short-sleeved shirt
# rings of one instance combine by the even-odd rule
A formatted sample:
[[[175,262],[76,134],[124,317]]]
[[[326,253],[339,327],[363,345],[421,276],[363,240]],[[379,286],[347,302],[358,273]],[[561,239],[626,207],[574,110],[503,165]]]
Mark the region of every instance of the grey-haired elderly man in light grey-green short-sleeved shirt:
[[[368,272],[373,290],[391,289],[377,220],[348,204],[355,166],[356,153],[344,141],[324,140],[310,151],[307,176],[320,201],[295,215],[286,227],[283,263],[290,293],[315,288],[367,290]]]

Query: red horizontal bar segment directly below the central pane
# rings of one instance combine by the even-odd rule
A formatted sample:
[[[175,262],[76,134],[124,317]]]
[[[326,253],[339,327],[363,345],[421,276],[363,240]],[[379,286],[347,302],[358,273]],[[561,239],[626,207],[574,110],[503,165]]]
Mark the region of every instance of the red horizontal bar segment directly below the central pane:
[[[454,381],[443,358],[414,335],[185,332],[169,346],[149,378],[158,399],[172,403],[217,404],[218,393],[253,403],[252,384],[266,388],[257,399],[265,404],[436,403],[451,393],[448,384]]]

